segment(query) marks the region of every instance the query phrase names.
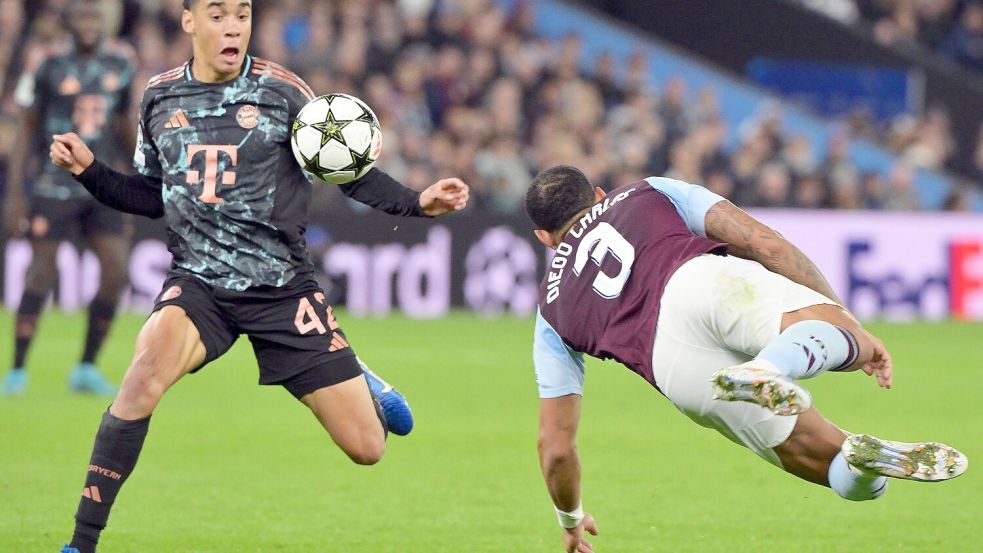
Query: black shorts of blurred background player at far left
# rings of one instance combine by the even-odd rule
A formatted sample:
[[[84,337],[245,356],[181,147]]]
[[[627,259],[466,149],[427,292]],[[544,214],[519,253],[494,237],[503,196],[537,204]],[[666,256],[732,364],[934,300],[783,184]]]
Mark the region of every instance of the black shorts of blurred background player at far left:
[[[62,200],[34,196],[31,199],[31,238],[71,240],[99,234],[122,235],[123,213],[106,207],[95,198]]]

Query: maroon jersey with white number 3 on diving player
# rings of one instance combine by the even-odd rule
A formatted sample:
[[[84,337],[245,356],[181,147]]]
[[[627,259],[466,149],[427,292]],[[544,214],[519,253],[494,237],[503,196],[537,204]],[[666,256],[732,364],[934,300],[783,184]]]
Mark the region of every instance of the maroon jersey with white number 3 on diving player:
[[[557,248],[540,288],[548,327],[537,325],[537,339],[551,327],[567,348],[615,359],[658,387],[652,348],[662,292],[683,263],[726,253],[704,231],[706,212],[722,200],[703,187],[656,177],[611,191]],[[551,377],[540,373],[559,360],[544,359],[557,348],[536,349],[542,389]]]

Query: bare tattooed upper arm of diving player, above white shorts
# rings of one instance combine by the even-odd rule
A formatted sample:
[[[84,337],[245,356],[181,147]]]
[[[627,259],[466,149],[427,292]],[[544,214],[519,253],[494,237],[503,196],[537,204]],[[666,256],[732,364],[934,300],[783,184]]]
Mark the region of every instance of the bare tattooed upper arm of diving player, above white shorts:
[[[707,238],[728,244],[727,252],[761,263],[766,269],[843,302],[799,248],[730,202],[718,202],[706,216]]]

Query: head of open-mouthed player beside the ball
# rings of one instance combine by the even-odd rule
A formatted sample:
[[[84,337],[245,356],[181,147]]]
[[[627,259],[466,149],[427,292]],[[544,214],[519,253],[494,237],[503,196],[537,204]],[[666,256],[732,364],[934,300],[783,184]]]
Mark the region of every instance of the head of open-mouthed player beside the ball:
[[[239,74],[252,35],[250,0],[198,0],[182,18],[191,34],[197,74],[204,81],[225,81]]]

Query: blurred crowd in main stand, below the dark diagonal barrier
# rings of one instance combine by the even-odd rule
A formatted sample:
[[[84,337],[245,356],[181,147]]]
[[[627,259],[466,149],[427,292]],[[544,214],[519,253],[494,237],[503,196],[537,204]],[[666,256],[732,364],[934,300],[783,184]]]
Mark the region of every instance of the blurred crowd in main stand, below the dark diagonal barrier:
[[[0,41],[0,182],[21,139],[19,75],[64,43],[67,1],[0,0],[0,35],[16,37]],[[139,60],[136,105],[143,83],[189,56],[181,0],[107,4],[114,34]],[[490,0],[281,0],[256,12],[254,53],[315,91],[366,100],[385,131],[380,166],[418,189],[460,176],[475,209],[520,212],[532,175],[561,162],[605,187],[666,174],[746,206],[919,209],[914,168],[942,167],[953,151],[942,111],[892,126],[888,144],[903,155],[886,174],[850,162],[859,125],[817,145],[786,133],[781,108],[766,104],[732,128],[717,91],[690,90],[681,78],[650,86],[642,54],[602,55],[585,71],[580,39],[537,36],[528,3],[509,12]],[[977,158],[983,179],[983,131]],[[956,194],[947,207],[965,203]]]

